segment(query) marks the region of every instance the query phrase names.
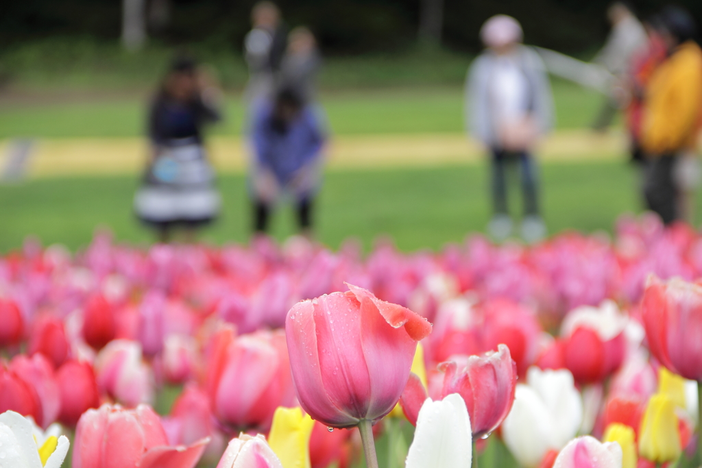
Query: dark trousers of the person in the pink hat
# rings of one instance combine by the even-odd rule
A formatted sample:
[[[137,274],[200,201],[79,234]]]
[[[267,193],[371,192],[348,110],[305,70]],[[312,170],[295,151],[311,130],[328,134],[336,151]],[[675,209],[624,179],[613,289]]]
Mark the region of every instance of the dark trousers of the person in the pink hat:
[[[507,214],[507,171],[509,166],[519,163],[521,169],[524,215],[538,215],[536,189],[536,167],[527,152],[507,152],[493,149],[492,152],[492,201],[495,214]]]

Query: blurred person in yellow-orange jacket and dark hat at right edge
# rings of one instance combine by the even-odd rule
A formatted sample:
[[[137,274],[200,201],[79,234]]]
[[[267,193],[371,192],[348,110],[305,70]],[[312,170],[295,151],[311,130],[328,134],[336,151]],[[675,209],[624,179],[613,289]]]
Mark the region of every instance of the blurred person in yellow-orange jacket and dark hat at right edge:
[[[668,225],[682,215],[675,178],[677,159],[694,147],[702,115],[702,49],[694,41],[696,25],[687,11],[670,6],[661,19],[668,58],[647,86],[641,145],[647,158],[647,208]]]

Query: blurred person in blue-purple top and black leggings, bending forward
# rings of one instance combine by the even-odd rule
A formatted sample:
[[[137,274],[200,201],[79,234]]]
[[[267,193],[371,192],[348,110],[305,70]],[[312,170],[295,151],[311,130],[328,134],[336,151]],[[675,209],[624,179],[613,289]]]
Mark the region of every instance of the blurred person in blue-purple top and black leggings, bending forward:
[[[256,109],[251,140],[254,232],[267,232],[275,204],[289,196],[296,205],[300,231],[311,236],[326,140],[319,115],[294,88],[282,88]]]

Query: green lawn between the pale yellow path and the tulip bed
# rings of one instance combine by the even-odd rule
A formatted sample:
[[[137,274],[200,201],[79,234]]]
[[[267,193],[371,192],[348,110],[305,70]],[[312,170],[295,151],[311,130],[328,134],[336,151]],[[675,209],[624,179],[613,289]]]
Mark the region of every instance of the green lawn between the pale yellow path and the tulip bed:
[[[621,163],[548,163],[541,172],[543,211],[550,232],[574,228],[611,229],[625,211],[638,211],[632,168]],[[95,227],[110,227],[117,239],[152,240],[131,212],[137,180],[129,177],[56,178],[0,186],[0,251],[16,248],[28,234],[44,243],[86,245]],[[246,241],[249,206],[243,176],[220,179],[224,210],[220,222],[206,229],[213,243]],[[520,210],[513,191],[515,213]],[[702,203],[697,205],[702,206]],[[319,239],[338,248],[349,236],[369,248],[378,234],[390,234],[405,250],[441,248],[482,231],[489,218],[486,174],[482,166],[331,171],[319,196]],[[702,214],[697,210],[697,218]],[[291,210],[274,218],[274,234],[294,230]]]

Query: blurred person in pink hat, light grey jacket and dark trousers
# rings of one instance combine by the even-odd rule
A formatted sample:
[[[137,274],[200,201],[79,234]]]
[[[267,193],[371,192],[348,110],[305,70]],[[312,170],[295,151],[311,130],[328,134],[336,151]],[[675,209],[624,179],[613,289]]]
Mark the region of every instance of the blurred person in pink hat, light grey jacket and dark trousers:
[[[486,50],[473,62],[466,81],[466,114],[473,135],[491,150],[494,215],[488,230],[496,240],[512,233],[508,214],[508,166],[521,168],[525,241],[543,238],[546,227],[538,207],[536,163],[532,152],[553,120],[553,100],[543,62],[521,44],[522,27],[514,18],[496,15],[480,36]]]

